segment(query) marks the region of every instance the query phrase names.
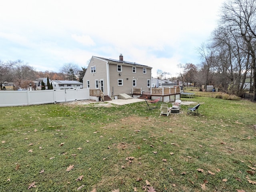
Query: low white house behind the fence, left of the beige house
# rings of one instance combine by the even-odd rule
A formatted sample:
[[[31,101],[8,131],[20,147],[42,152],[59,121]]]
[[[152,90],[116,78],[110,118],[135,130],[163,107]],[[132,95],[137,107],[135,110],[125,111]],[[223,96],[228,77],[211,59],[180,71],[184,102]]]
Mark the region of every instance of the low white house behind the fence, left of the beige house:
[[[52,80],[53,89],[79,89],[83,88],[83,84],[79,81],[70,80]]]

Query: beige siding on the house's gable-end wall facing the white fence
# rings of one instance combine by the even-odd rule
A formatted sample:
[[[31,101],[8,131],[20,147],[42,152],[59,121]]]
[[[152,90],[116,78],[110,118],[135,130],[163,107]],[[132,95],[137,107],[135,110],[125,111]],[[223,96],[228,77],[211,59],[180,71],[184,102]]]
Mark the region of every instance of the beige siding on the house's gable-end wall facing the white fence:
[[[91,67],[96,66],[96,73],[91,74]],[[84,87],[87,87],[87,81],[90,81],[90,89],[96,89],[95,87],[95,80],[99,81],[99,88],[100,89],[100,80],[104,80],[104,94],[108,94],[107,88],[107,68],[106,68],[106,61],[93,58],[88,65],[86,73],[84,74]]]

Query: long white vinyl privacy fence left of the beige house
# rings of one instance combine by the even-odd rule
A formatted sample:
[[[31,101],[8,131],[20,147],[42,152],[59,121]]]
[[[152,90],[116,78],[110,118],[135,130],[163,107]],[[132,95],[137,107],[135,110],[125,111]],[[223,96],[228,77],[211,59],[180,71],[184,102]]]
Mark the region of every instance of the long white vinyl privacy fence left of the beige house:
[[[0,91],[0,107],[88,100],[89,89]]]

